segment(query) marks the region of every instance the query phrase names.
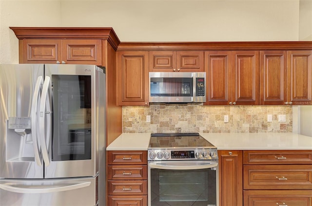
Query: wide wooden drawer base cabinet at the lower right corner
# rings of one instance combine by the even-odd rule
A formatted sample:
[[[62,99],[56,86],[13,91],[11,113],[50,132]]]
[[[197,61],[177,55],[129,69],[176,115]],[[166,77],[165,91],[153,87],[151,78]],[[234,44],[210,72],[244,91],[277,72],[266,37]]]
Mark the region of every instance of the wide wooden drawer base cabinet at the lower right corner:
[[[244,206],[312,206],[312,150],[244,150]]]

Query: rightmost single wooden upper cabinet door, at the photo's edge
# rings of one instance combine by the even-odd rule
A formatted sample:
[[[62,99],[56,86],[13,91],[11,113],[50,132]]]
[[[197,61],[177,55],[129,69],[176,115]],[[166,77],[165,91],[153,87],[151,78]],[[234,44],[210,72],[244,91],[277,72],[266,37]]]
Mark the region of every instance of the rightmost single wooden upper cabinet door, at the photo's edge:
[[[312,105],[312,51],[288,52],[288,101]]]

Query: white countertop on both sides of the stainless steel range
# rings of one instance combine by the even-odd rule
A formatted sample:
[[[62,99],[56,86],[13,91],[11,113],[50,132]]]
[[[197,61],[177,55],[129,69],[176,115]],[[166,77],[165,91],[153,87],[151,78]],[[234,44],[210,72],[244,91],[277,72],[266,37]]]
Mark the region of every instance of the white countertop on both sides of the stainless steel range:
[[[296,133],[200,133],[218,150],[312,150],[312,137]],[[107,150],[147,150],[151,133],[122,133]]]

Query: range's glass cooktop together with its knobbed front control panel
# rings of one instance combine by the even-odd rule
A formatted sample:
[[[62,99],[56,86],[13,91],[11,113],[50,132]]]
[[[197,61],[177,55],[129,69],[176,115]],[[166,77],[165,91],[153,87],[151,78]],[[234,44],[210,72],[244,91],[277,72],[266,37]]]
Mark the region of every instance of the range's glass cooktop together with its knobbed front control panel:
[[[218,160],[217,149],[199,133],[152,133],[148,160]]]

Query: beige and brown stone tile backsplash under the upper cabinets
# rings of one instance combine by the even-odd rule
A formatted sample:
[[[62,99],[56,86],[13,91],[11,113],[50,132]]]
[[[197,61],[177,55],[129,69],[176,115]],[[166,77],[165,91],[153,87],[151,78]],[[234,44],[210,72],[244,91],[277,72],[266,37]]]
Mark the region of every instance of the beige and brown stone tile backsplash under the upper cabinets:
[[[123,106],[124,133],[144,132],[292,132],[289,106],[202,106],[162,104]],[[268,122],[272,114],[272,122]],[[278,115],[286,116],[285,122]],[[151,122],[146,122],[146,116]],[[228,115],[229,122],[224,122]]]

